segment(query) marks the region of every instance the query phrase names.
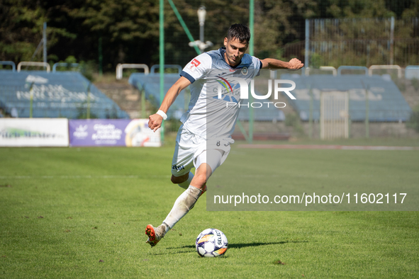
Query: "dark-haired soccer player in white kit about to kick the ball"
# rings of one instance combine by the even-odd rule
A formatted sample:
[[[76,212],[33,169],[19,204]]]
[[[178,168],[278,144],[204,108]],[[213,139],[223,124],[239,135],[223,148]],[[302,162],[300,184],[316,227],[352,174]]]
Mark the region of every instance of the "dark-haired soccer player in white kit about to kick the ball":
[[[206,191],[206,182],[211,174],[223,164],[230,152],[230,144],[239,106],[225,106],[225,100],[233,105],[240,102],[237,94],[228,99],[216,98],[211,88],[211,79],[227,81],[228,78],[243,77],[247,84],[259,73],[259,69],[300,69],[303,64],[294,58],[289,62],[278,59],[257,59],[245,54],[250,40],[250,30],[245,25],[233,24],[224,38],[224,47],[198,55],[184,67],[180,78],[167,91],[157,113],[150,115],[148,126],[156,131],[162,120],[167,118],[167,110],[180,91],[191,86],[189,110],[181,117],[181,127],[177,133],[176,147],[172,160],[172,183],[177,183],[184,192],[175,201],[172,210],[159,227],[147,225],[146,243],[155,246],[194,207],[196,200]],[[215,84],[217,84],[215,82]],[[215,87],[214,87],[215,88]],[[230,88],[231,89],[231,88]],[[233,91],[233,89],[231,89]],[[230,92],[233,93],[233,92]],[[212,94],[212,95],[211,95]],[[222,103],[222,104],[220,104]],[[195,176],[191,173],[196,168]]]

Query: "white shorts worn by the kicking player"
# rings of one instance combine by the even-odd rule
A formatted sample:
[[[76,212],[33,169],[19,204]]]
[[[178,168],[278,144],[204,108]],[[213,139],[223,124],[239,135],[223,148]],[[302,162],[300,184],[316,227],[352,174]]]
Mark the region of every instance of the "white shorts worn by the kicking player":
[[[233,139],[204,139],[181,125],[176,137],[172,159],[172,174],[183,176],[192,168],[206,163],[214,172],[227,159]]]

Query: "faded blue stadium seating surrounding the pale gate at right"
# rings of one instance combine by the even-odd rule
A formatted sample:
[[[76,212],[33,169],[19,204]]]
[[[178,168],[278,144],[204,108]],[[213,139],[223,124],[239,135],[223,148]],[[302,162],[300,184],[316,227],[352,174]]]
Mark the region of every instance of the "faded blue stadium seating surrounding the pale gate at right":
[[[281,79],[289,79],[296,83],[296,89],[292,91],[296,100],[289,99],[289,101],[299,113],[301,120],[308,120],[310,115],[311,97],[308,90],[310,88],[313,92],[313,120],[320,118],[321,91],[349,92],[349,115],[352,121],[365,120],[367,104],[371,122],[406,121],[412,111],[389,75],[282,74]],[[368,102],[365,98],[365,89],[369,89]]]

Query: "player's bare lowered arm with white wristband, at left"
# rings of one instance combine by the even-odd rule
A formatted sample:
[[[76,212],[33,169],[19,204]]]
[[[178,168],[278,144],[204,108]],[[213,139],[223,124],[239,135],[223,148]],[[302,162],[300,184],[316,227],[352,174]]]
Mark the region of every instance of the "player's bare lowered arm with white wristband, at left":
[[[186,89],[191,84],[191,81],[181,76],[173,85],[170,87],[169,91],[167,91],[166,96],[162,101],[162,105],[160,106],[159,110],[162,110],[163,113],[167,113],[170,106],[174,100],[176,100],[177,96],[179,95],[180,91]],[[150,127],[153,132],[155,132],[160,126],[162,126],[163,117],[160,114],[153,114],[148,117],[148,127]]]

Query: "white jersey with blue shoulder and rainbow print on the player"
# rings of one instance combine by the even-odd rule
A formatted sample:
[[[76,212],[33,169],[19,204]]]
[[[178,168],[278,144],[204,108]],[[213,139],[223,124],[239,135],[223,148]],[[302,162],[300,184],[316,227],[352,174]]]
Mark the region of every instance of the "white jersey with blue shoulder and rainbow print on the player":
[[[231,67],[225,62],[224,53],[224,47],[204,52],[192,59],[180,74],[191,81],[191,101],[181,122],[187,130],[204,139],[228,138],[233,134],[240,111],[240,85],[234,78],[240,77],[249,84],[262,68],[259,59],[247,54],[238,66]]]

